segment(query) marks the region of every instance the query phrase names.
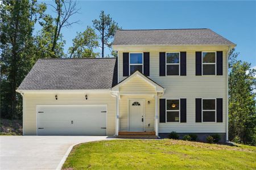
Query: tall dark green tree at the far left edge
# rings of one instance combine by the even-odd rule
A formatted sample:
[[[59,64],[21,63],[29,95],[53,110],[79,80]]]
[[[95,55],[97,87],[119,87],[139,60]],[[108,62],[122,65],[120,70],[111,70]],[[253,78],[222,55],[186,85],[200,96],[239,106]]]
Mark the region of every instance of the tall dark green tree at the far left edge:
[[[1,117],[20,118],[21,96],[16,87],[31,69],[32,32],[38,12],[36,1],[2,1],[1,33]]]

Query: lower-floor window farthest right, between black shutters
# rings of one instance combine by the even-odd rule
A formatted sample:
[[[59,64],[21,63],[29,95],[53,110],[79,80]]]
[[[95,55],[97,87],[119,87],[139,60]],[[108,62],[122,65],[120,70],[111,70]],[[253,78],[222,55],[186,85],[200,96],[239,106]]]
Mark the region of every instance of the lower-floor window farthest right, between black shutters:
[[[216,99],[203,99],[203,122],[216,122]]]

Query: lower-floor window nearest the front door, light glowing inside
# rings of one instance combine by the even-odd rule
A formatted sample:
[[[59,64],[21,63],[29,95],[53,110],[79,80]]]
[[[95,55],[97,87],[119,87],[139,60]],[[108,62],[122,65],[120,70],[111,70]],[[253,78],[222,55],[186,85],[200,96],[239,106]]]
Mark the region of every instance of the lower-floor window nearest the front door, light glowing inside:
[[[180,122],[180,100],[166,100],[166,122]]]

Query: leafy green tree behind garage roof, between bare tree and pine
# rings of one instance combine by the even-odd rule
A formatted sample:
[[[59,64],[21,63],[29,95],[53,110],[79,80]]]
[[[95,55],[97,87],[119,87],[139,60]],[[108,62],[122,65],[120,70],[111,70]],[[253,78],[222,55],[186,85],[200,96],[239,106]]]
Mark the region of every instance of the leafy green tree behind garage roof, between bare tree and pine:
[[[98,53],[93,52],[93,48],[98,46],[98,37],[94,29],[87,27],[84,32],[77,33],[73,39],[73,46],[68,49],[70,58],[95,58]]]

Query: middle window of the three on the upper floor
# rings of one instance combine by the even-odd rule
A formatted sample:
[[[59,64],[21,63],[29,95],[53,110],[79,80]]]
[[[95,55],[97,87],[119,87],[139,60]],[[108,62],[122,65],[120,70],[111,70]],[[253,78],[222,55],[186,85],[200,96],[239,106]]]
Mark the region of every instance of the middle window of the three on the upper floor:
[[[166,75],[180,75],[180,53],[166,53]]]

